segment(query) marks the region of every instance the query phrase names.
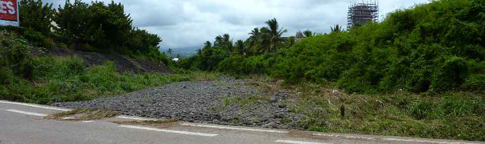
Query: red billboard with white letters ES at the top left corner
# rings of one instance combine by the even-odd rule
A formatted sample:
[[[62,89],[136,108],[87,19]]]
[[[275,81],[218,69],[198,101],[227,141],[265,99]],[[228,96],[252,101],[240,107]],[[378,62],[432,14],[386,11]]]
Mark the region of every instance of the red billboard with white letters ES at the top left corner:
[[[0,0],[0,25],[19,26],[18,0]]]

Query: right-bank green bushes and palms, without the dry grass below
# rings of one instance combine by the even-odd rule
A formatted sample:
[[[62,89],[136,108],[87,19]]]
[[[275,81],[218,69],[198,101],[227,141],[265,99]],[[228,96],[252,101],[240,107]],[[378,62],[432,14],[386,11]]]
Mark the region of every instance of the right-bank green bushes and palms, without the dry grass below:
[[[280,36],[286,31],[272,19],[268,27],[252,30],[245,45],[236,43],[244,53],[234,50],[226,34],[216,37],[214,47],[206,44],[199,55],[182,60],[181,68],[270,74],[287,83],[338,82],[359,93],[480,90],[484,12],[483,0],[436,0],[392,12],[381,23],[348,31],[336,25],[330,34],[314,36],[305,32],[291,47],[284,47]]]

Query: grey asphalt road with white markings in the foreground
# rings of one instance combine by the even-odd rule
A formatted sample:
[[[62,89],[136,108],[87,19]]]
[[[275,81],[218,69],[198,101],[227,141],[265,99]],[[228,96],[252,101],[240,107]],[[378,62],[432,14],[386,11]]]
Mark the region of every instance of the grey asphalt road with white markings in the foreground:
[[[485,144],[186,122],[158,126],[112,122],[147,119],[133,116],[96,121],[43,118],[66,110],[69,109],[0,101],[0,144]]]

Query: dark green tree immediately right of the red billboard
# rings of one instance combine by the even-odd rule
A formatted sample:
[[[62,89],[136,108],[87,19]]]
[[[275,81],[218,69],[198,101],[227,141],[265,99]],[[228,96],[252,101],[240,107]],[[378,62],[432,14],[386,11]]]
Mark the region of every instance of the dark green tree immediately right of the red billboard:
[[[52,3],[42,3],[42,0],[21,0],[20,1],[20,26],[30,28],[36,32],[48,36],[54,28],[52,20],[55,16],[55,9]]]

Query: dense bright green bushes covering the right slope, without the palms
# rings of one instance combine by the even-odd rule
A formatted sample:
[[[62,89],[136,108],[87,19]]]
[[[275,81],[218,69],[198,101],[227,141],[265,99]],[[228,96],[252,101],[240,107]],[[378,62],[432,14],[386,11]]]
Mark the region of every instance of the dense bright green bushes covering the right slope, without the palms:
[[[483,87],[484,0],[437,0],[379,24],[305,38],[279,67],[288,82],[338,80],[349,92]]]

